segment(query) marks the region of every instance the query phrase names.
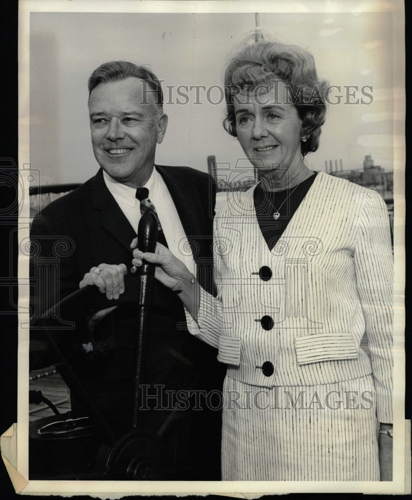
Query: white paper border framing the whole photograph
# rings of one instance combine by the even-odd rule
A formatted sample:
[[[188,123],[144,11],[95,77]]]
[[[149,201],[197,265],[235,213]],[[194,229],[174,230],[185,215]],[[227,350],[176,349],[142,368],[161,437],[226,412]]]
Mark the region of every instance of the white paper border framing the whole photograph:
[[[21,0],[19,12],[19,170],[30,164],[30,12],[361,12],[387,11],[393,15],[393,86],[402,86],[404,81],[404,12],[402,1],[39,1]],[[396,82],[396,85],[395,85]],[[404,99],[401,108],[395,111],[404,112]],[[402,126],[403,125],[403,126]],[[404,137],[404,123],[394,121],[394,135]],[[404,140],[394,144],[394,164],[405,162]],[[24,177],[24,176],[23,176]],[[19,221],[19,241],[29,236],[29,204],[28,183],[25,181],[20,192],[24,206]],[[22,493],[59,493],[59,494],[93,494],[102,498],[116,498],[128,494],[155,493],[221,493],[239,495],[254,493],[287,493],[287,492],[363,492],[363,493],[401,493],[404,491],[405,470],[405,434],[404,434],[404,170],[394,168],[394,260],[395,260],[395,336],[394,336],[394,401],[395,417],[393,438],[393,481],[391,482],[156,482],[132,481],[29,481]],[[28,257],[19,255],[19,324],[28,322],[29,284]],[[17,436],[17,470],[22,478],[28,478],[28,359],[29,333],[27,329],[19,330],[19,401],[18,401],[18,436]],[[23,485],[23,483],[22,483]]]

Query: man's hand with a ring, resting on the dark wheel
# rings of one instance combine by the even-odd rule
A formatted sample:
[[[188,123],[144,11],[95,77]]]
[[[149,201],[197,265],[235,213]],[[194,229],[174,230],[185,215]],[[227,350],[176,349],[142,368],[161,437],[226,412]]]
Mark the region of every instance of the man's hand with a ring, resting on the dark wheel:
[[[100,264],[86,272],[79,283],[79,288],[95,285],[109,300],[112,298],[116,300],[125,291],[125,274],[127,274],[125,264]]]

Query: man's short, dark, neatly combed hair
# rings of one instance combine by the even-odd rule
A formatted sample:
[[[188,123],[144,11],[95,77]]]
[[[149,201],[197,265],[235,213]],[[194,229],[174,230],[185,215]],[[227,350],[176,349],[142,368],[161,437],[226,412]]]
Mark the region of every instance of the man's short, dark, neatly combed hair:
[[[100,83],[109,83],[110,81],[125,80],[130,76],[145,81],[150,87],[147,92],[155,93],[155,110],[158,115],[163,112],[163,91],[157,76],[146,66],[138,66],[133,62],[110,61],[104,62],[90,75],[88,81],[89,97],[92,90]],[[144,97],[146,98],[146,96]],[[145,99],[146,100],[146,99]]]

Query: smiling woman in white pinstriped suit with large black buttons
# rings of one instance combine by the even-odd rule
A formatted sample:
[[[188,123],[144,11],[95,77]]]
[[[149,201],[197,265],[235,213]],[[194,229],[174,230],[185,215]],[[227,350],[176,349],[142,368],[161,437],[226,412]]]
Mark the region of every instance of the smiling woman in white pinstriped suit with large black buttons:
[[[379,461],[391,476],[388,216],[376,192],[304,163],[326,88],[296,46],[245,45],[228,64],[225,127],[258,183],[216,214],[216,298],[161,245],[134,250],[227,364],[226,480],[378,480]]]

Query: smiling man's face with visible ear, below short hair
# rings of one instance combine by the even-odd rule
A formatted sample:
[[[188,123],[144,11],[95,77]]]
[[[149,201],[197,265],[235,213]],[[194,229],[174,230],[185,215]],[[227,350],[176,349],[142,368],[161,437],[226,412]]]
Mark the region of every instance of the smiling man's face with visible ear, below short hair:
[[[156,96],[135,77],[100,83],[89,97],[93,152],[111,177],[131,187],[149,179],[156,144],[166,132],[167,116],[156,115]]]

